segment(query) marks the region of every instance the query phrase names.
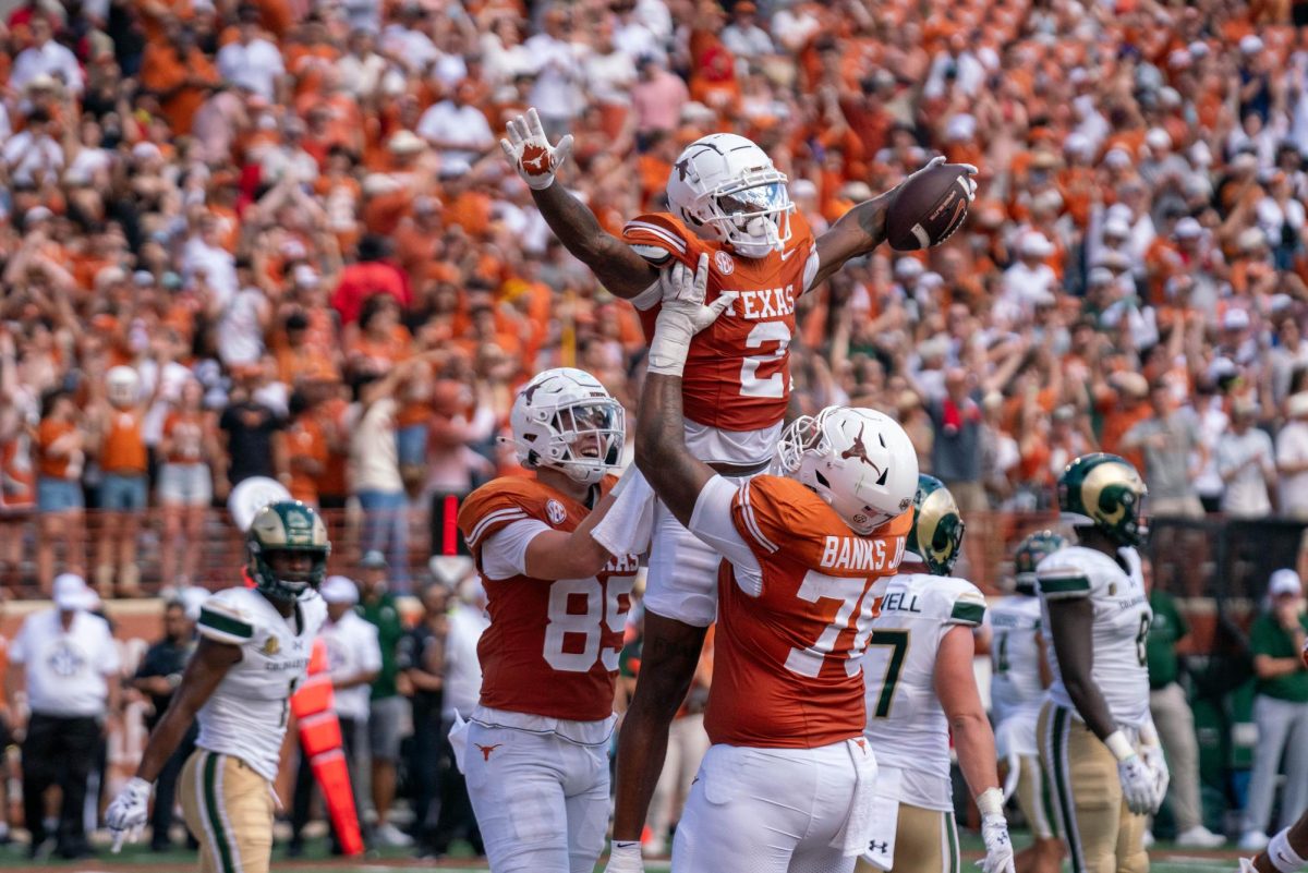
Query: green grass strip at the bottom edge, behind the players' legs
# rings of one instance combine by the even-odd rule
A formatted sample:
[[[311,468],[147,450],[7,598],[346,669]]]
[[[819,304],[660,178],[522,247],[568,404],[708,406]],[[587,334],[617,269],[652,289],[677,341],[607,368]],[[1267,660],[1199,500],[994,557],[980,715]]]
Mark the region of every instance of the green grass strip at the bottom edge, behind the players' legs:
[[[1016,838],[1020,848],[1025,844],[1022,835]],[[964,872],[974,870],[972,861],[981,857],[981,840],[973,834],[963,836]],[[156,853],[144,847],[129,846],[122,855],[110,855],[107,849],[97,859],[85,861],[44,861],[33,864],[27,860],[25,846],[0,847],[0,870],[5,873],[29,873],[35,870],[61,870],[65,873],[195,873],[195,855],[184,851]],[[1165,843],[1155,846],[1150,852],[1151,873],[1235,873],[1239,869],[1233,849],[1218,852],[1189,852],[1173,849]],[[311,840],[305,857],[288,860],[285,848],[273,849],[272,869],[275,870],[330,870],[331,873],[400,873],[413,869],[438,869],[442,873],[484,873],[485,864],[468,859],[449,859],[442,861],[419,861],[398,851],[369,853],[364,859],[337,859],[326,855],[324,840]],[[599,868],[596,868],[598,870]],[[666,861],[646,863],[646,873],[667,873]],[[1063,869],[1069,869],[1063,865]]]

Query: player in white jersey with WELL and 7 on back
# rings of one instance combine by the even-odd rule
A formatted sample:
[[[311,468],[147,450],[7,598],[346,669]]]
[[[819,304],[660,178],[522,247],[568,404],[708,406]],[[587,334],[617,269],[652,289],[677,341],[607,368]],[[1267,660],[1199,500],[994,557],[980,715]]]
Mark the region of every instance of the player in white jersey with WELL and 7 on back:
[[[917,482],[908,557],[900,574],[876,584],[878,609],[863,655],[865,736],[880,772],[875,827],[858,869],[959,869],[952,732],[963,778],[981,810],[981,869],[1012,873],[994,734],[972,672],[972,633],[985,616],[985,597],[971,582],[948,575],[963,545],[954,495],[933,476]]]

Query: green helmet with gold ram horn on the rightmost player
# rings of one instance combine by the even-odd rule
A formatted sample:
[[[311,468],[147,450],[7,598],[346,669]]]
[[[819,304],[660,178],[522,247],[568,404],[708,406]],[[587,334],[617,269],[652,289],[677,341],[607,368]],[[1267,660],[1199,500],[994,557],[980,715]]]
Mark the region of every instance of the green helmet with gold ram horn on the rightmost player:
[[[1117,545],[1137,546],[1148,532],[1144,480],[1130,461],[1107,452],[1082,455],[1058,477],[1058,508],[1075,527],[1093,525]]]

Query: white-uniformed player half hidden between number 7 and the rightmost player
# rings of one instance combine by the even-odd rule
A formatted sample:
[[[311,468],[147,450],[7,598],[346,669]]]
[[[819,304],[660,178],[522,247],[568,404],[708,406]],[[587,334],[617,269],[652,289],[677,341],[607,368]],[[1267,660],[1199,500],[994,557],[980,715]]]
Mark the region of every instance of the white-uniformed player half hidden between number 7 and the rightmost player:
[[[1036,596],[1036,565],[1066,545],[1053,531],[1028,535],[1012,553],[1012,593],[986,610],[995,746],[999,758],[1008,763],[1005,793],[1018,795],[1018,808],[1033,838],[1015,859],[1019,873],[1058,873],[1062,865],[1062,843],[1054,834],[1036,742],[1036,721],[1050,678]]]

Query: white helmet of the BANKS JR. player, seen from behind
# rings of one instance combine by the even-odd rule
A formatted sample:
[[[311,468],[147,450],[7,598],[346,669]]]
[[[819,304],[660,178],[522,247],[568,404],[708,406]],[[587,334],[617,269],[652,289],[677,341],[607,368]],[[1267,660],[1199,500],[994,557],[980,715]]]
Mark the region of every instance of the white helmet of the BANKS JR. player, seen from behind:
[[[908,511],[917,493],[912,440],[874,409],[827,406],[800,416],[777,443],[776,469],[816,491],[861,536]]]

